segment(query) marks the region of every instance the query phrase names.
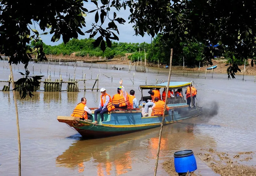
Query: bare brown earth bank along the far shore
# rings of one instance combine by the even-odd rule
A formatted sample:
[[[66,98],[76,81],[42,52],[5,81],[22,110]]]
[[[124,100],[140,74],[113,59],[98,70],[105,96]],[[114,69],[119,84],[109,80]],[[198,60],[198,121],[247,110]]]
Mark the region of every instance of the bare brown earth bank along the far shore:
[[[93,63],[99,63],[99,64],[118,64],[118,65],[129,65],[130,64],[130,60],[128,60],[128,55],[131,55],[131,53],[126,53],[126,56],[118,58],[118,57],[114,57],[111,60],[104,60],[103,57],[91,57],[89,55],[85,56],[85,57],[81,57],[81,56],[76,56],[75,53],[72,53],[70,56],[65,55],[63,56],[62,54],[60,55],[47,55],[47,59],[52,59],[52,60],[61,60],[61,61],[71,61],[71,62],[75,62],[75,61],[86,61],[86,62],[93,62]],[[217,65],[217,68],[215,68],[213,70],[214,73],[218,73],[218,74],[226,74],[227,73],[227,68],[228,66],[225,66],[227,64],[227,60],[226,59],[215,59],[212,60],[213,65]],[[248,59],[248,63],[251,63],[251,59]],[[140,61],[139,63],[137,61],[132,62],[132,65],[134,64],[135,66],[138,64],[140,66]],[[145,65],[144,62],[141,63],[142,66]],[[162,65],[160,64],[159,67],[163,68],[166,65]],[[146,67],[158,67],[158,64],[152,64],[152,63],[146,63]],[[180,70],[183,71],[183,66],[172,66],[173,69],[175,70]],[[184,68],[185,71],[191,71],[191,72],[202,72],[205,73],[205,69],[207,67],[211,67],[210,65],[205,65],[204,67],[200,67],[200,69],[198,67],[194,67],[194,68],[189,68],[186,67]],[[244,65],[239,66],[239,68],[241,69],[241,72],[237,72],[237,74],[245,74],[245,75],[256,75],[256,66],[251,67],[251,65],[249,64],[248,66],[245,67],[245,71],[244,71]],[[199,70],[199,71],[198,71]],[[212,72],[212,70],[207,70],[207,73]]]

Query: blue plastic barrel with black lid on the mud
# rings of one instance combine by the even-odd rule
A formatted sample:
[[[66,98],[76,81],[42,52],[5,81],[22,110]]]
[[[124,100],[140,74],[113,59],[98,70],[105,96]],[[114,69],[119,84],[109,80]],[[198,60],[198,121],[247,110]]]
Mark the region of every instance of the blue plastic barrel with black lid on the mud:
[[[196,158],[192,150],[174,153],[174,167],[177,173],[193,172],[197,169]]]

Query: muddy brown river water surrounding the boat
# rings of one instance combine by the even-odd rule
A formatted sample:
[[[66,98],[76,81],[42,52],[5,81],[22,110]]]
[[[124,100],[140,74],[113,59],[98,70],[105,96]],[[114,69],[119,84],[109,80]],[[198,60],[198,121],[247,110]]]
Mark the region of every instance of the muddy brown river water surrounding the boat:
[[[9,69],[3,68],[0,61],[0,80],[8,80]],[[29,70],[32,74],[32,65]],[[47,74],[47,64],[41,70]],[[59,79],[59,66],[51,66],[52,79]],[[15,80],[20,78],[15,66]],[[49,70],[48,70],[49,71]],[[23,71],[24,72],[24,71]],[[91,69],[83,68],[86,78],[91,78]],[[161,73],[161,72],[160,72]],[[40,75],[40,64],[35,64],[34,74]],[[68,80],[67,67],[61,66],[64,81]],[[68,75],[74,76],[74,68],[68,67]],[[100,75],[99,87],[107,89],[108,94],[116,93],[118,81],[124,80],[126,90],[134,89],[140,97],[138,86],[155,84],[158,80],[167,80],[166,75],[157,73],[135,73],[122,70],[93,68],[92,78]],[[103,75],[105,74],[105,75]],[[182,73],[183,74],[183,73]],[[81,67],[76,68],[76,79],[82,78]],[[108,78],[108,77],[110,78]],[[236,80],[227,80],[226,74],[214,74],[214,79],[197,79],[173,75],[172,81],[191,81],[197,84],[198,103],[203,106],[204,115],[181,123],[164,126],[159,158],[158,175],[166,175],[161,163],[173,156],[173,152],[190,149],[195,153],[200,149],[213,148],[223,152],[255,151],[255,110],[256,84],[254,77],[243,76]],[[45,76],[47,77],[47,76]],[[111,82],[113,77],[113,82]],[[88,81],[86,87],[92,87],[94,81]],[[3,87],[0,84],[0,89]],[[62,85],[63,90],[66,85]],[[41,85],[43,89],[43,85]],[[79,83],[83,88],[83,83]],[[146,92],[145,92],[146,94]],[[21,133],[21,169],[26,176],[34,175],[153,175],[158,144],[159,128],[140,131],[122,136],[102,139],[83,140],[81,136],[65,123],[59,123],[58,115],[70,115],[81,97],[87,98],[89,107],[97,107],[100,92],[79,93],[36,92],[35,96],[20,100],[18,97],[20,133]],[[0,92],[1,130],[0,130],[0,175],[16,176],[18,173],[18,143],[15,121],[15,108],[12,92]],[[214,103],[216,102],[216,103]],[[216,108],[218,105],[218,109]],[[212,110],[215,107],[216,111]],[[253,156],[247,164],[255,164]],[[198,171],[202,175],[213,175],[203,162],[197,158]]]

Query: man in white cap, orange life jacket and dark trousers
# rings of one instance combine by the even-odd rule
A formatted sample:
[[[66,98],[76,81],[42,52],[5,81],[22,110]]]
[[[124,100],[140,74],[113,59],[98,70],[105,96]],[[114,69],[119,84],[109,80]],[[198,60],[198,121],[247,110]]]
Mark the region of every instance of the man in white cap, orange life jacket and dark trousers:
[[[108,111],[111,111],[115,109],[115,106],[112,104],[112,98],[110,95],[106,93],[105,88],[101,88],[100,92],[100,103],[99,103],[99,109],[96,109],[94,111],[94,123],[98,123],[98,113],[100,113],[101,122],[104,121],[104,113],[107,113]]]

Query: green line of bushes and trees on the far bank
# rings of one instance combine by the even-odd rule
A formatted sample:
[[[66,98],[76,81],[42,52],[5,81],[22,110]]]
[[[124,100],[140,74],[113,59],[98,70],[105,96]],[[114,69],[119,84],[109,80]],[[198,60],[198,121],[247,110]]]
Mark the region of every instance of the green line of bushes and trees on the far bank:
[[[41,41],[41,40],[40,40]],[[158,61],[161,64],[168,64],[170,60],[170,49],[173,48],[174,54],[172,63],[173,65],[183,65],[188,67],[198,66],[199,63],[204,64],[204,48],[209,47],[201,44],[199,42],[181,42],[175,43],[175,40],[163,40],[162,35],[158,34],[152,41],[151,44],[146,42],[143,43],[126,43],[126,42],[112,42],[111,47],[106,47],[106,50],[103,52],[100,49],[100,46],[94,47],[93,42],[95,39],[71,39],[66,44],[61,43],[57,46],[44,46],[45,54],[54,54],[54,55],[70,55],[71,53],[76,53],[76,56],[95,56],[95,57],[106,57],[107,59],[112,59],[116,57],[123,57],[125,53],[132,53],[128,56],[128,59],[137,61],[138,59],[144,61],[146,51],[146,59],[148,63],[157,64]],[[38,42],[37,42],[38,43]],[[36,43],[36,44],[37,44]],[[31,42],[31,45],[36,45],[34,41]],[[217,48],[216,48],[217,49]],[[230,60],[228,55],[229,52],[215,52],[217,56],[224,56],[226,59]],[[222,54],[223,53],[223,54]],[[235,59],[238,65],[242,65],[242,60]],[[248,62],[246,63],[246,65]]]

